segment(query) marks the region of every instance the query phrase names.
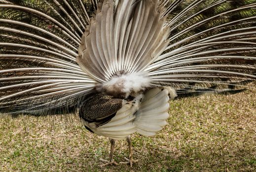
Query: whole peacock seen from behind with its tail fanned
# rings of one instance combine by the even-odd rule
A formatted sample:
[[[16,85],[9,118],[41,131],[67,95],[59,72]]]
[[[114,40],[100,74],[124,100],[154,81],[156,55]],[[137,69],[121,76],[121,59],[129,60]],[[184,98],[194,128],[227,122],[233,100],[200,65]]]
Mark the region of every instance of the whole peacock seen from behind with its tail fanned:
[[[0,0],[0,113],[79,114],[114,144],[172,99],[256,86],[256,0]]]

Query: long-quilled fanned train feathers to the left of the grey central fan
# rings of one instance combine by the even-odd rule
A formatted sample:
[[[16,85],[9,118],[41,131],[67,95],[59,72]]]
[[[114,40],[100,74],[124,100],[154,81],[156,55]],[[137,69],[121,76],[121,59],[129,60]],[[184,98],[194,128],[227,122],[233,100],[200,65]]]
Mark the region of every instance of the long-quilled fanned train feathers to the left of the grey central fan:
[[[0,112],[72,111],[96,83],[76,63],[96,2],[0,2]]]

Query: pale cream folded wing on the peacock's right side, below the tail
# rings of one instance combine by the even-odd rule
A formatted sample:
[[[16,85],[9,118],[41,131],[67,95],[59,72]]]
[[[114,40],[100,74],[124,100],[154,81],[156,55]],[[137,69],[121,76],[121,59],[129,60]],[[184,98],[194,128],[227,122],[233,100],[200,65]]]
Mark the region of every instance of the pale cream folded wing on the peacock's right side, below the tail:
[[[176,97],[176,92],[170,87],[153,88],[146,92],[140,109],[136,112],[134,125],[138,133],[154,136],[163,129],[169,117],[169,99]]]

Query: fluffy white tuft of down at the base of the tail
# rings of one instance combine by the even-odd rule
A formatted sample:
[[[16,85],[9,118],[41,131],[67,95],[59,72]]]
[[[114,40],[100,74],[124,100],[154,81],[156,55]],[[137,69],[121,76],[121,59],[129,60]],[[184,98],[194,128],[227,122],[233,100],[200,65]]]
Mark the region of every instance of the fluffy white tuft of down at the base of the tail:
[[[150,86],[151,79],[146,72],[126,73],[113,76],[110,81],[103,83],[103,91],[110,95],[138,95]]]

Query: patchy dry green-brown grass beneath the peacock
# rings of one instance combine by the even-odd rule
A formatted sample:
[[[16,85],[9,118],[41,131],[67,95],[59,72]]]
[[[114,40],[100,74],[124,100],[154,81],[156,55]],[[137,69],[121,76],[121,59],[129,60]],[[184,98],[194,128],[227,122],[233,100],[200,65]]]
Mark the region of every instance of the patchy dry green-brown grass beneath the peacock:
[[[133,168],[99,168],[109,140],[76,116],[0,118],[0,172],[256,171],[256,91],[175,100],[170,115],[155,137],[132,136]],[[115,160],[127,156],[127,143],[117,142]]]

